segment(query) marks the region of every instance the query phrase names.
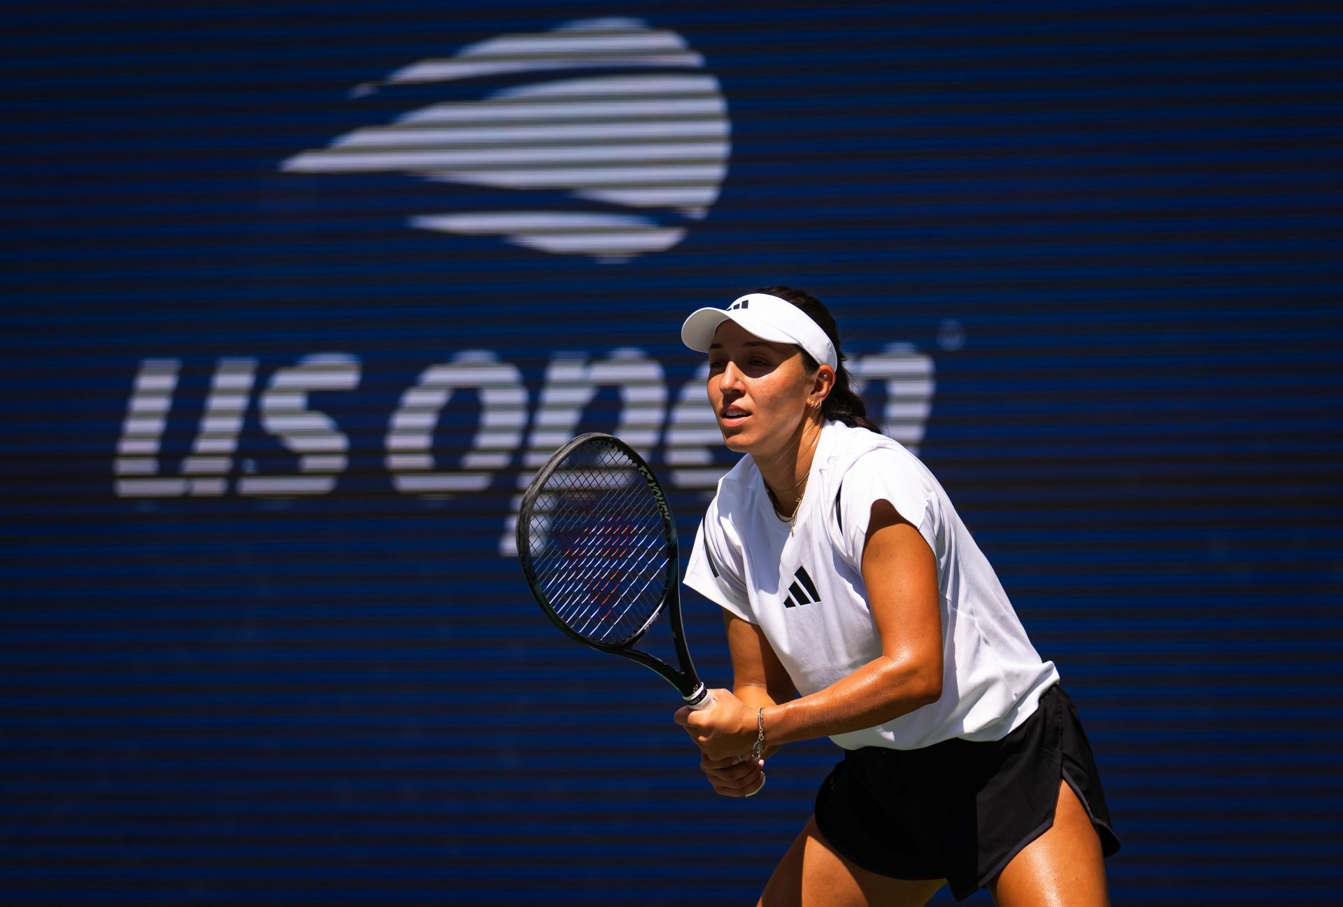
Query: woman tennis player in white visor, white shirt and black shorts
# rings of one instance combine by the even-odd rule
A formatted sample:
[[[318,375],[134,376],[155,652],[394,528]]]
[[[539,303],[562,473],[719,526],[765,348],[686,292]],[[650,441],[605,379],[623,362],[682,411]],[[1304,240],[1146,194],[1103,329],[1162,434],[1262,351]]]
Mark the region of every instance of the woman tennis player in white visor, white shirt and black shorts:
[[[681,337],[748,456],[685,576],[723,606],[733,689],[676,720],[728,797],[784,743],[845,750],[760,903],[1107,904],[1119,838],[1077,711],[941,485],[868,421],[826,306],[774,286]]]

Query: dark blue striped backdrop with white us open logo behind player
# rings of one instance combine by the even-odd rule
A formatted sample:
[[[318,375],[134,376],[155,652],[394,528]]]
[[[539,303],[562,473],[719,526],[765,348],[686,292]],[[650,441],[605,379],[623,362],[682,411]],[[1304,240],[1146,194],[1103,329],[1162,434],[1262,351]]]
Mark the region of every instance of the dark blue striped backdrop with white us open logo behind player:
[[[677,328],[776,282],[1058,662],[1115,900],[1336,900],[1336,4],[7,20],[5,900],[751,903],[838,751],[716,798],[509,527],[600,429],[688,539]]]

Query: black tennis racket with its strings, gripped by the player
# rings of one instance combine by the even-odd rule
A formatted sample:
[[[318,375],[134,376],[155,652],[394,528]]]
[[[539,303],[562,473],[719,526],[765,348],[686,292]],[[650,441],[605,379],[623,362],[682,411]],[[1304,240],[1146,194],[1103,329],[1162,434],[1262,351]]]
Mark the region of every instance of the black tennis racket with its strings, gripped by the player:
[[[681,626],[676,521],[630,445],[592,433],[556,450],[522,494],[517,554],[541,610],[569,638],[655,671],[690,708],[713,701]],[[678,668],[634,648],[663,610]]]

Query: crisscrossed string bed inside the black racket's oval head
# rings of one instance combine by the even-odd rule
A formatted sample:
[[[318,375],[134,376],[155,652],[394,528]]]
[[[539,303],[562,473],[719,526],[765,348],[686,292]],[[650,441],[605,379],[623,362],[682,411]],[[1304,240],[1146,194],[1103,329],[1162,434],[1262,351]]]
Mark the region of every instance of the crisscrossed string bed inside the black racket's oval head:
[[[528,520],[537,585],[565,626],[607,645],[647,626],[666,594],[665,524],[627,456],[599,442],[572,451]]]

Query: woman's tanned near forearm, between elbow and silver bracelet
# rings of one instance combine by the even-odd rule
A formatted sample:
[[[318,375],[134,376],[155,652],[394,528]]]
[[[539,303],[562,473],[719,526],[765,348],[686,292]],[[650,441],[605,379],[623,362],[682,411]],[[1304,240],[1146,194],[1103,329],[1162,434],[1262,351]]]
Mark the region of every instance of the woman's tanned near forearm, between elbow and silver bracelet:
[[[737,693],[739,699],[744,697]],[[766,742],[833,736],[884,724],[941,697],[941,676],[928,665],[878,656],[825,689],[788,703],[766,705]]]

